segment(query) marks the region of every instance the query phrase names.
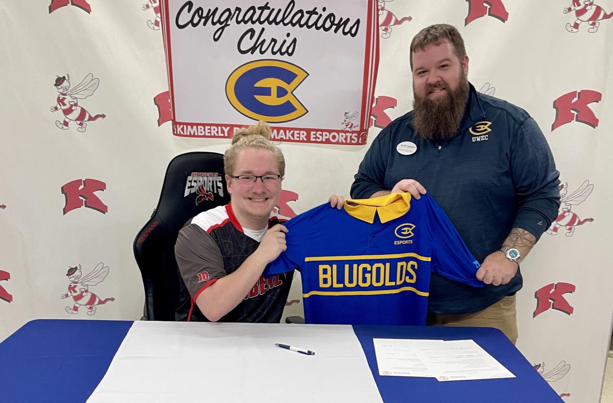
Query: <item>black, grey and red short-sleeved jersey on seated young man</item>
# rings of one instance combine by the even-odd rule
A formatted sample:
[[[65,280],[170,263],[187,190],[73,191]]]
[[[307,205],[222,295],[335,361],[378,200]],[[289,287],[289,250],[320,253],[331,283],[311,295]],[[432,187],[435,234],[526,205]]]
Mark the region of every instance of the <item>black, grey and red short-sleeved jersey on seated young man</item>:
[[[268,228],[280,220],[271,214]],[[175,258],[180,273],[180,306],[177,320],[208,322],[196,305],[196,298],[221,277],[233,273],[259,246],[232,212],[232,205],[219,206],[198,214],[181,228]],[[294,273],[260,277],[242,303],[219,322],[279,323]]]

